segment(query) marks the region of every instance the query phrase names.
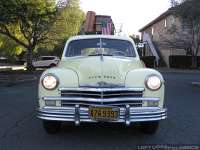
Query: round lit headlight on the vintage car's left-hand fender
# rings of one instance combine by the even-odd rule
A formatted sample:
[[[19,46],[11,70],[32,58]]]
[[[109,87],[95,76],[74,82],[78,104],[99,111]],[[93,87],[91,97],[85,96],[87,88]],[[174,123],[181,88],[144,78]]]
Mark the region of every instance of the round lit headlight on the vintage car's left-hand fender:
[[[54,90],[58,83],[58,78],[53,74],[47,74],[42,78],[42,86],[47,90]]]

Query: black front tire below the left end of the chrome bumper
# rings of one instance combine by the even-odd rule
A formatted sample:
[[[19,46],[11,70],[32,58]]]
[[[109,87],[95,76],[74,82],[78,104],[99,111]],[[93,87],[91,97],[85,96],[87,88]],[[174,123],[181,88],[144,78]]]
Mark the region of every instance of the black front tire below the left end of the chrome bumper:
[[[48,134],[56,134],[61,129],[61,122],[43,120],[43,127]]]

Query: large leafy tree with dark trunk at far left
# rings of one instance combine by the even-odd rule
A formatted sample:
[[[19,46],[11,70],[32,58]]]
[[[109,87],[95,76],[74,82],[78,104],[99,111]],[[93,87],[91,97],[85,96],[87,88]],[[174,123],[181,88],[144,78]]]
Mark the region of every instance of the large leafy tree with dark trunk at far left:
[[[0,33],[27,50],[28,69],[32,69],[35,47],[48,39],[56,19],[54,0],[1,0]]]

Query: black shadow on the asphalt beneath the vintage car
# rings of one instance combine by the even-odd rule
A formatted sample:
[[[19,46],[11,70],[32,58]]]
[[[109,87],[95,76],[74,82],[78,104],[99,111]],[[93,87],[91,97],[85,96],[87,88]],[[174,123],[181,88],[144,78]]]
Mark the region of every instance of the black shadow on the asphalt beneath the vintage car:
[[[120,136],[138,138],[140,137],[151,137],[142,133],[139,128],[139,124],[133,124],[130,126],[125,126],[124,124],[112,124],[112,123],[93,123],[93,124],[81,124],[80,126],[75,126],[74,124],[62,124],[61,132],[59,133],[62,136],[79,136],[83,138],[102,138],[107,139],[119,139]],[[94,139],[93,139],[94,140]]]

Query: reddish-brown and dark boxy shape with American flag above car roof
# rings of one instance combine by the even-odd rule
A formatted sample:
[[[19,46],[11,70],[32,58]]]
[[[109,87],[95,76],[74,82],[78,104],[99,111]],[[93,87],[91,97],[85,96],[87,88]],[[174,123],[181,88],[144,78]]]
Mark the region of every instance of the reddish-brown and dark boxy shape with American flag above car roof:
[[[114,35],[115,26],[111,16],[96,15],[93,11],[88,11],[86,20],[82,26],[82,34],[109,34]]]

